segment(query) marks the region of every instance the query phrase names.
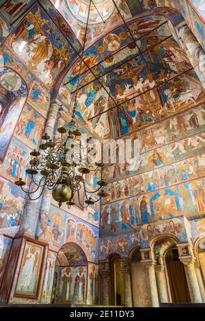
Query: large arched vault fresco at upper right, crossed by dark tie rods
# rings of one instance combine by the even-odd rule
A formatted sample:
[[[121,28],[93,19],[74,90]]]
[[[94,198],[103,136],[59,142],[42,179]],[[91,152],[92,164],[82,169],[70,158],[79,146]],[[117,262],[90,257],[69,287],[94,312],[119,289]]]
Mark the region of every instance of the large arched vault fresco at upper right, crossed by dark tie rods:
[[[203,102],[200,81],[187,55],[169,33],[167,23],[163,19],[140,21],[150,22],[152,37],[150,33],[142,37],[138,34],[135,42],[126,43],[131,39],[122,29],[124,26],[115,29],[111,35],[122,38],[124,49],[116,48],[111,56],[103,46],[105,38],[85,52],[90,70],[86,66],[81,69],[76,115],[100,137],[126,135]],[[133,30],[137,24],[139,21],[131,24]],[[128,52],[133,51],[133,55],[124,55],[131,44],[134,48]],[[99,61],[102,46],[107,58],[104,55],[104,60]],[[92,67],[94,57],[96,66]],[[75,64],[68,72],[64,87],[75,89],[78,68]]]

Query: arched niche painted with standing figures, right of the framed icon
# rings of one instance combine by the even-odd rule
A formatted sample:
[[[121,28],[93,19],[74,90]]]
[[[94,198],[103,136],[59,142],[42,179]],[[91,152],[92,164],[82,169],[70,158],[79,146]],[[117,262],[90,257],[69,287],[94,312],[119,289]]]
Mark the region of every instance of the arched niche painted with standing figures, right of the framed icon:
[[[85,304],[87,257],[76,243],[66,243],[57,254],[53,282],[53,303]]]

